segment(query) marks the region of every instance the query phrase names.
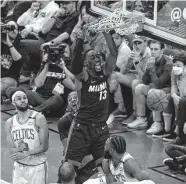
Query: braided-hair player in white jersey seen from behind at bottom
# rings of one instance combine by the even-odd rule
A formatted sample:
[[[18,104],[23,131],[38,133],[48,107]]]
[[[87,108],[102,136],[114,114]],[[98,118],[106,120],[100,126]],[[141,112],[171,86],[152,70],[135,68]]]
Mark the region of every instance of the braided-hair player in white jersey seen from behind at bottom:
[[[147,172],[126,152],[124,137],[114,135],[105,143],[104,175],[84,184],[154,184]]]

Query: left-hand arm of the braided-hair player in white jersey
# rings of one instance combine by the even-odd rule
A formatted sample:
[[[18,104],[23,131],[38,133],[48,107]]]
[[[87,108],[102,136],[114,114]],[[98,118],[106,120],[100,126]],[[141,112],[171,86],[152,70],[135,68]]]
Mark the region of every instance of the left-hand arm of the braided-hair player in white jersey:
[[[109,161],[108,159],[103,159],[102,161],[102,167],[103,167],[103,172],[105,174],[105,178],[106,178],[106,183],[107,184],[111,184],[115,182],[115,179],[109,169]]]

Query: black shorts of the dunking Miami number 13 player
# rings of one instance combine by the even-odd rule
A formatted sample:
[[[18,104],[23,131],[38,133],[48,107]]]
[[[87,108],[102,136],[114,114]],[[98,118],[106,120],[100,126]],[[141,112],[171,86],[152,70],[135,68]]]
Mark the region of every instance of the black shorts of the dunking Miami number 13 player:
[[[83,125],[76,122],[67,151],[67,159],[80,162],[92,154],[95,161],[104,155],[105,141],[109,137],[106,123],[102,125]]]

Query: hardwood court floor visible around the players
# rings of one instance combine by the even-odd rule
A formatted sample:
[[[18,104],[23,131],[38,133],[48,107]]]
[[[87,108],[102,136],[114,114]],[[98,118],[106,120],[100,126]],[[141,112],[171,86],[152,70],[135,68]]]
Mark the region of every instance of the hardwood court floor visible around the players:
[[[9,105],[2,105],[3,109],[10,109]],[[13,114],[14,111],[7,111]],[[1,179],[11,182],[13,162],[9,158],[8,146],[5,135],[5,121],[10,117],[6,112],[1,112]],[[62,146],[57,133],[56,119],[49,119],[50,142],[47,151],[49,162],[49,182],[57,181],[57,171],[61,161]],[[186,176],[171,172],[162,161],[166,158],[165,147],[169,143],[152,139],[145,130],[128,130],[120,125],[120,135],[127,142],[127,151],[147,170],[156,184],[182,184],[186,183]],[[121,130],[123,130],[121,132]]]

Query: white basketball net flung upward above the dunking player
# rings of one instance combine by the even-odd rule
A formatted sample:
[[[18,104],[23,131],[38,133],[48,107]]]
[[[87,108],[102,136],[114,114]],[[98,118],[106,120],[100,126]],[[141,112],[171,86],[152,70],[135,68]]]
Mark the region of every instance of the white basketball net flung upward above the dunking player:
[[[86,24],[89,31],[100,33],[115,30],[120,35],[130,35],[143,30],[144,16],[137,13],[124,14],[122,9],[116,9],[110,16]]]

